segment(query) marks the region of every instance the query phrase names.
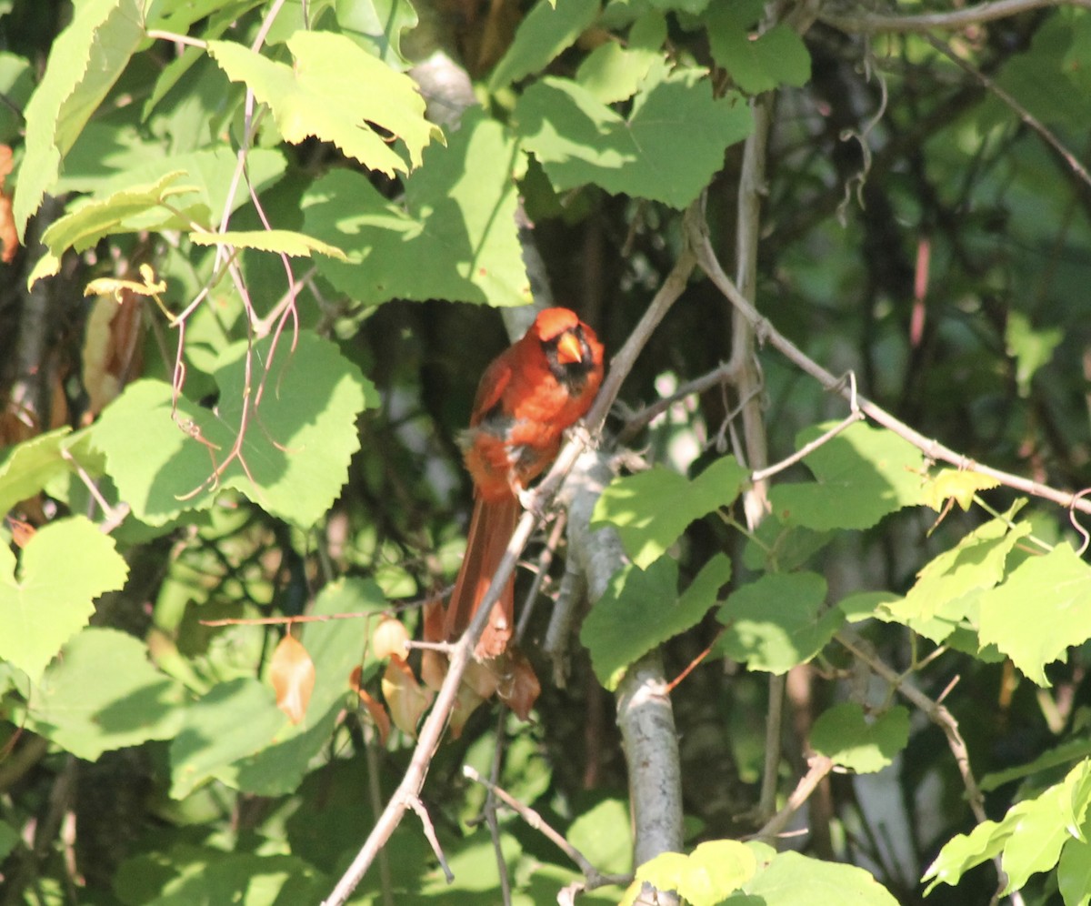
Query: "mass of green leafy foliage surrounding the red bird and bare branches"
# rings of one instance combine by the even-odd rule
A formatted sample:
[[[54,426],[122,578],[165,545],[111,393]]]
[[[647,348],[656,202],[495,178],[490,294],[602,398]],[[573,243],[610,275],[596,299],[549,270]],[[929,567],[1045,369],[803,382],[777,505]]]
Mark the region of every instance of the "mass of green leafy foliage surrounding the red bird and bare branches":
[[[615,353],[692,250],[684,210],[772,331],[920,434],[1042,486],[1091,484],[1086,9],[0,11],[5,903],[329,894],[411,758],[405,730],[380,739],[349,676],[397,711],[371,631],[396,613],[419,636],[419,609],[396,605],[457,569],[457,434],[508,342],[492,308],[551,291]],[[425,63],[472,94],[465,81],[435,104],[425,88]],[[524,263],[529,243],[540,263]],[[85,299],[96,278],[129,283]],[[464,763],[600,872],[631,872],[616,668],[661,649],[670,679],[712,646],[670,696],[675,848],[692,861],[660,865],[660,886],[695,903],[859,887],[912,904],[947,845],[930,903],[1005,887],[1087,903],[1091,583],[1067,499],[1021,504],[972,469],[926,480],[920,451],[856,425],[776,475],[771,515],[747,522],[736,461],[779,461],[848,410],[721,286],[697,271],[684,288],[607,424],[639,458],[620,457],[635,476],[597,516],[636,565],[573,637],[563,688],[536,609],[533,722],[482,707],[436,752],[423,801],[454,881],[410,818],[353,902],[546,903],[580,880],[511,812],[491,835]],[[640,418],[740,343],[759,371]],[[968,505],[936,524],[951,494]],[[542,594],[563,591],[554,568]],[[291,725],[268,676],[283,624],[239,620],[303,612],[371,617],[296,630],[315,679]],[[806,861],[699,847],[768,826],[808,776],[803,810],[778,812],[807,832],[769,838]],[[974,867],[994,857],[1006,880]]]

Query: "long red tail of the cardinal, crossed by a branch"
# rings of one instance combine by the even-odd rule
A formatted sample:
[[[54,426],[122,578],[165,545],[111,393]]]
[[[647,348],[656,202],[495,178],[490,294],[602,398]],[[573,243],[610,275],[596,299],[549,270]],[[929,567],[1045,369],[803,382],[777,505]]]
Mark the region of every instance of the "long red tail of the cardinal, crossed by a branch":
[[[454,641],[469,625],[477,613],[493,573],[504,559],[504,551],[519,520],[519,501],[513,494],[501,500],[482,500],[473,503],[469,537],[466,541],[466,557],[463,559],[455,591],[451,595],[445,634]],[[515,576],[504,584],[504,591],[493,605],[489,624],[484,628],[477,645],[479,658],[497,657],[507,649],[507,643],[515,630]]]

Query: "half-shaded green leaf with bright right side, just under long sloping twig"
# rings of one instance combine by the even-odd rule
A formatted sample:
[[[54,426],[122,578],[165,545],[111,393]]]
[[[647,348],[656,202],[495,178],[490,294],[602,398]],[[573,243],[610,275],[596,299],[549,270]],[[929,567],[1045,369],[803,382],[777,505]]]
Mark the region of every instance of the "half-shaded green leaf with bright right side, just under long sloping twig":
[[[801,431],[798,448],[834,422]],[[863,422],[831,438],[804,462],[817,481],[775,485],[772,511],[807,528],[870,528],[883,516],[921,502],[921,452],[897,434]]]

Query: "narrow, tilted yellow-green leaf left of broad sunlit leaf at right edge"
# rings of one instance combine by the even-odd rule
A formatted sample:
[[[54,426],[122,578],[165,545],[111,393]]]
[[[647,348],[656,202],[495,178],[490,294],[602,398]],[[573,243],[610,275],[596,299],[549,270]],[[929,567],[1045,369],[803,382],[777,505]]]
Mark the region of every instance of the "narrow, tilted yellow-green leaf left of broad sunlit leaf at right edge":
[[[886,607],[900,623],[916,628],[915,622],[937,615],[958,620],[948,605],[964,600],[971,592],[992,588],[1004,579],[1011,549],[1030,534],[1030,523],[1020,522],[1011,529],[1009,513],[994,518],[966,535],[954,548],[935,557],[916,574],[916,583],[901,600]]]

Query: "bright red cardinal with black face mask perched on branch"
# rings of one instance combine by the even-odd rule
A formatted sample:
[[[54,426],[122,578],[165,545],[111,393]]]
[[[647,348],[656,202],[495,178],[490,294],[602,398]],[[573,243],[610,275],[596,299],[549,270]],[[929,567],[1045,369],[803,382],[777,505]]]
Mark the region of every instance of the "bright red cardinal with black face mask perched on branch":
[[[445,634],[461,635],[489,591],[519,518],[519,491],[553,462],[565,428],[591,407],[602,383],[602,345],[566,308],[539,312],[521,339],[481,375],[463,458],[473,479],[466,556],[447,608]],[[512,637],[515,579],[507,581],[477,646],[497,657]]]

